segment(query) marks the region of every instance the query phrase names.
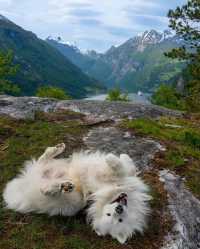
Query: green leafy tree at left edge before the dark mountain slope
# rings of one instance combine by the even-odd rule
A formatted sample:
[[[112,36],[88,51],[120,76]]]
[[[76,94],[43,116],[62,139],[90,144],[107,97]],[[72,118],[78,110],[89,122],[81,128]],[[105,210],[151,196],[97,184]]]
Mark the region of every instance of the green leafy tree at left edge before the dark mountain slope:
[[[18,66],[13,65],[12,52],[0,51],[0,94],[19,95],[20,88],[13,84],[9,78],[16,74]]]

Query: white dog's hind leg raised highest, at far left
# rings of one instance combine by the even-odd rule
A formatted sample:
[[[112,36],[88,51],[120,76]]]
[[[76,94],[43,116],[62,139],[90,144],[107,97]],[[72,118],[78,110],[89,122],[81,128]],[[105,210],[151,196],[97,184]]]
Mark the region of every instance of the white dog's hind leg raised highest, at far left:
[[[55,147],[48,147],[45,150],[44,154],[42,154],[38,159],[38,163],[47,163],[49,160],[60,155],[64,150],[65,150],[64,143],[58,144]]]

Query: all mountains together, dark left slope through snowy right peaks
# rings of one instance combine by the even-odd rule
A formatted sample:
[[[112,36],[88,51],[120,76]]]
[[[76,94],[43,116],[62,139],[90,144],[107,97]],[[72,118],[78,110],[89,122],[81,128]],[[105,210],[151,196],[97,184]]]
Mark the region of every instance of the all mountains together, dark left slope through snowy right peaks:
[[[150,30],[105,53],[83,53],[61,37],[41,40],[6,17],[0,19],[0,50],[13,52],[19,70],[11,80],[22,96],[35,95],[42,86],[59,87],[78,99],[116,86],[129,93],[152,93],[160,84],[179,80],[184,63],[164,53],[182,44],[169,30]]]

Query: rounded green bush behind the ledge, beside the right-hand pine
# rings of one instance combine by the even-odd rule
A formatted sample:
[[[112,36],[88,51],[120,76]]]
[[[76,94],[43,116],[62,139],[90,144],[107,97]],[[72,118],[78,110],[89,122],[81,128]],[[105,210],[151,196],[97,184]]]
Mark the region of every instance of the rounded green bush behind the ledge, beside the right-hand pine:
[[[185,101],[172,86],[161,85],[153,94],[151,102],[170,109],[185,110]]]

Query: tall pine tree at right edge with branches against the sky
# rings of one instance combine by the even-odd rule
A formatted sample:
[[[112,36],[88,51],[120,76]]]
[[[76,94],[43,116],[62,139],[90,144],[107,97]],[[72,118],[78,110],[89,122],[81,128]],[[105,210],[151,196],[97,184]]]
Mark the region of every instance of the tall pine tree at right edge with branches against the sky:
[[[184,72],[187,106],[200,111],[200,0],[188,0],[187,4],[170,10],[170,27],[184,39],[185,45],[166,55],[188,62]]]

